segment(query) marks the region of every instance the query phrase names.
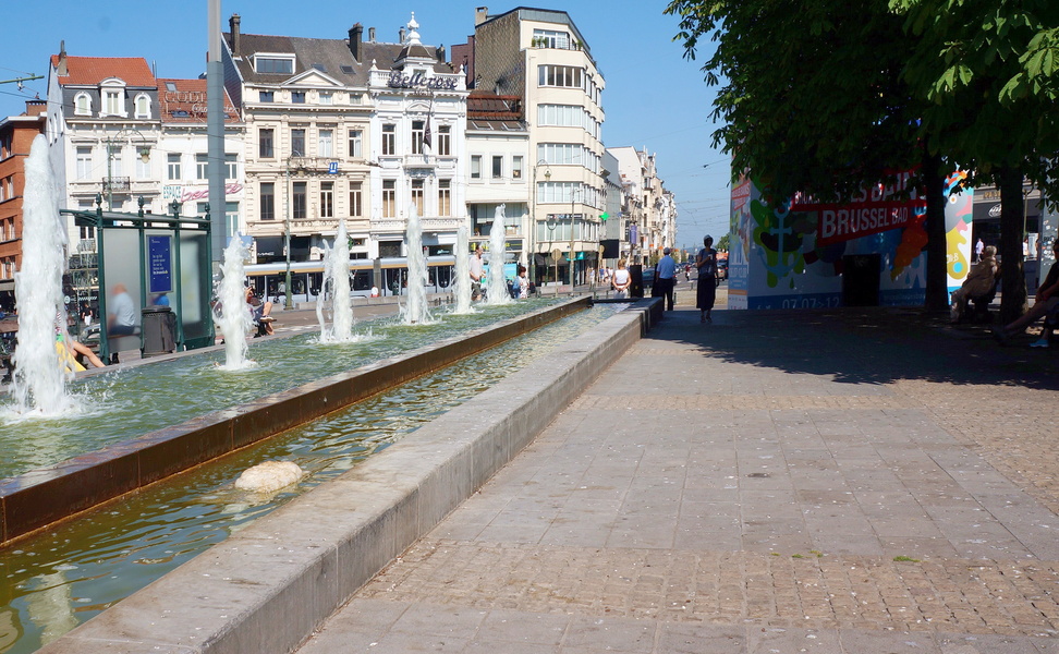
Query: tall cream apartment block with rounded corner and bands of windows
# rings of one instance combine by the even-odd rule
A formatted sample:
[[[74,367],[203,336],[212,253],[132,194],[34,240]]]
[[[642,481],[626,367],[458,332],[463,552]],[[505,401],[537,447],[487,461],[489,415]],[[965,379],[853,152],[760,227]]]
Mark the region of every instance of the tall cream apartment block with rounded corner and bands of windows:
[[[470,45],[470,44],[468,44]],[[518,8],[475,14],[475,89],[523,100],[535,179],[533,252],[561,253],[560,278],[577,283],[598,267],[604,213],[601,95],[588,44],[564,11]],[[550,173],[550,174],[546,174]],[[538,270],[539,275],[539,270]]]

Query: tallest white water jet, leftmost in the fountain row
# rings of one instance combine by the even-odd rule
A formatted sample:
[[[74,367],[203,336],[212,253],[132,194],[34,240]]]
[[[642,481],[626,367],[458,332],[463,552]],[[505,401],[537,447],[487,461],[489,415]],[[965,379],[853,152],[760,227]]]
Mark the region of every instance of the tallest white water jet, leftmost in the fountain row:
[[[26,158],[23,201],[22,269],[15,272],[19,299],[19,348],[15,350],[14,410],[20,414],[62,415],[73,408],[66,373],[56,349],[57,315],[62,302],[66,228],[59,218],[59,192],[48,161],[48,140],[33,140]]]

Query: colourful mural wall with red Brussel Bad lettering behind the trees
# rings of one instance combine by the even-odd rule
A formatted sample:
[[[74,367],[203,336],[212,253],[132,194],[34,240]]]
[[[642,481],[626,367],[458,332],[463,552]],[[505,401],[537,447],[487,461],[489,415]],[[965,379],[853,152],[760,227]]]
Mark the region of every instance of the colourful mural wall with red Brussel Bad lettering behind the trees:
[[[963,177],[953,173],[946,184],[949,283],[957,287],[970,257],[971,193],[953,192]],[[732,189],[729,307],[841,306],[843,276],[857,275],[856,286],[872,287],[871,295],[872,266],[878,269],[878,304],[922,304],[926,203],[915,190],[905,193],[910,180],[902,173],[894,186],[865,189],[841,203],[806,196],[770,203],[743,179]]]

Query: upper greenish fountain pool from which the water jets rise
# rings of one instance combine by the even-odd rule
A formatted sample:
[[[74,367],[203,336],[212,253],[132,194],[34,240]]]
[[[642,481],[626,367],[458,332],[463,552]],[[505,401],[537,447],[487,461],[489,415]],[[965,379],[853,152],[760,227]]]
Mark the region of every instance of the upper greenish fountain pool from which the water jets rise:
[[[46,468],[77,455],[179,424],[299,385],[353,370],[402,352],[486,327],[555,304],[538,299],[479,306],[467,315],[439,314],[433,325],[401,325],[388,316],[358,323],[362,340],[317,342],[306,332],[256,342],[257,365],[227,371],[223,350],[154,362],[77,379],[76,415],[61,419],[13,415],[10,398],[0,403],[0,479]],[[2,651],[2,650],[0,650]]]

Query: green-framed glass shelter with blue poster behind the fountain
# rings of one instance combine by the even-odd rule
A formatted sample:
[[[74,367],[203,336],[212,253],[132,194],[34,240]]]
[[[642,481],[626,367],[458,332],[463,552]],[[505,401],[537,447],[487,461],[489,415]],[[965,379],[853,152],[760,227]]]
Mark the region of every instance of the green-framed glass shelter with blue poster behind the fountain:
[[[99,354],[138,349],[149,356],[214,344],[210,310],[209,208],[180,215],[61,209],[78,227],[95,228]]]

